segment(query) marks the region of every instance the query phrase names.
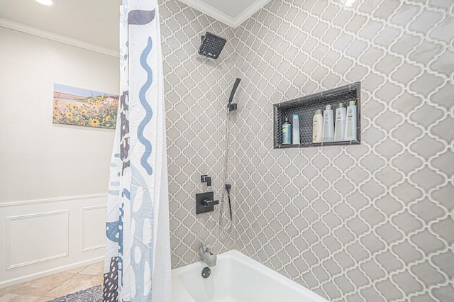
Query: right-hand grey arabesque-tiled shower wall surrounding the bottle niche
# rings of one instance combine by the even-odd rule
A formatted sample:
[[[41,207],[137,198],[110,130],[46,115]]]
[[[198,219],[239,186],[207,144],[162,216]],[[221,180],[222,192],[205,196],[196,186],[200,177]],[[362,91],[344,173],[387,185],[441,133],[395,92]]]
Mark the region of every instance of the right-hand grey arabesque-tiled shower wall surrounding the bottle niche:
[[[453,301],[454,2],[271,1],[235,34],[238,249],[330,301]],[[272,149],[272,104],[358,81],[362,145]]]

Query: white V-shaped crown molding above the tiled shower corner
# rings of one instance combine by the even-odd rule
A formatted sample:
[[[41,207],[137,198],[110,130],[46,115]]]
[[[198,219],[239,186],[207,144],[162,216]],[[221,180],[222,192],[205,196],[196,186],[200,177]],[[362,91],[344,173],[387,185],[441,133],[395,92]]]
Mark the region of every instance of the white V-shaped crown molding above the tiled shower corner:
[[[248,9],[245,9],[245,11],[243,11],[243,13],[240,13],[240,15],[237,16],[236,18],[232,18],[231,16],[228,16],[226,13],[223,13],[222,11],[215,9],[213,6],[209,6],[206,3],[201,2],[199,0],[179,0],[179,1],[183,2],[184,4],[187,4],[188,6],[191,6],[197,11],[201,11],[202,13],[205,13],[206,15],[211,16],[212,18],[215,18],[218,21],[221,21],[222,23],[227,24],[228,26],[236,28],[240,26],[241,23],[250,18],[250,16],[253,16],[255,12],[262,9],[262,7],[265,6],[265,4],[267,4],[271,0],[255,1],[248,7]]]

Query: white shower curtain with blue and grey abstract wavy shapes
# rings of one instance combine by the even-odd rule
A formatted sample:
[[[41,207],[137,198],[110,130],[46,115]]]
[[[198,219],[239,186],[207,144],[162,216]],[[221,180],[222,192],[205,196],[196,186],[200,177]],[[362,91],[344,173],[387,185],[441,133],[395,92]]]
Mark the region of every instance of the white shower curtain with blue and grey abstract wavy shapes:
[[[165,108],[157,0],[123,0],[103,301],[171,302]]]

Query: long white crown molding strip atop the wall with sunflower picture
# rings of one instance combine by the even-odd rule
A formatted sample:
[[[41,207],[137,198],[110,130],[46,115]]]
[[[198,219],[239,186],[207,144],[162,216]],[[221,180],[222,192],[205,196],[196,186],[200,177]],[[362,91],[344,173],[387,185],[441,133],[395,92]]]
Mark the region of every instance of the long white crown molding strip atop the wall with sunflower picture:
[[[112,50],[107,47],[102,47],[99,45],[94,45],[92,43],[69,38],[65,35],[58,35],[57,33],[50,33],[49,31],[46,31],[46,30],[40,30],[38,28],[34,28],[33,26],[26,26],[25,24],[13,22],[13,21],[10,21],[10,20],[4,19],[4,18],[0,18],[0,27],[17,30],[17,31],[20,31],[21,33],[28,33],[29,35],[35,35],[40,38],[53,40],[56,42],[67,44],[67,45],[72,45],[75,47],[83,48],[85,50],[92,50],[94,52],[99,52],[104,55],[110,55],[111,57],[120,57],[120,52],[118,50]]]

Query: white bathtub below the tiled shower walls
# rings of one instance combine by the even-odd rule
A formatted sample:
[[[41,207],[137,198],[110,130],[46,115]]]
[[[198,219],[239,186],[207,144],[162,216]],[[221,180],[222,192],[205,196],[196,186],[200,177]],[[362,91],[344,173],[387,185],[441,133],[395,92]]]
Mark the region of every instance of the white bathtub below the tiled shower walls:
[[[173,302],[326,301],[237,250],[218,255],[207,279],[204,267],[200,261],[172,270]]]

